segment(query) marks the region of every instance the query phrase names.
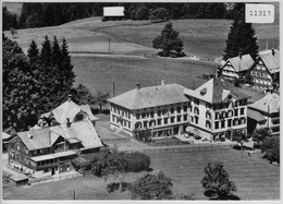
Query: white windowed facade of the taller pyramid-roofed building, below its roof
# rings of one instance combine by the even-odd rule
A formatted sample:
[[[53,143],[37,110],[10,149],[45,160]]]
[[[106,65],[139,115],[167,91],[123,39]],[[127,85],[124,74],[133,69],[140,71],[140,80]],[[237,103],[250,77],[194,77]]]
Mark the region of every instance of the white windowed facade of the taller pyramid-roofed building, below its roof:
[[[189,125],[198,128],[200,136],[207,140],[232,140],[232,132],[247,128],[246,100],[235,100],[211,105],[192,97]]]

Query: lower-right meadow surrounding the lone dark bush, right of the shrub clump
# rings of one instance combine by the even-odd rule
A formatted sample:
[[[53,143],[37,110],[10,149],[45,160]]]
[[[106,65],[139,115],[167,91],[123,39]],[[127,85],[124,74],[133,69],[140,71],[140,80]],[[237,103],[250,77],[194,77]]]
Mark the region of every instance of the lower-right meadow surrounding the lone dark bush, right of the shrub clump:
[[[262,159],[261,153],[251,154],[229,149],[150,154],[151,166],[171,177],[176,191],[194,193],[206,199],[200,180],[208,161],[222,161],[230,179],[235,182],[234,193],[241,200],[279,200],[280,168]]]

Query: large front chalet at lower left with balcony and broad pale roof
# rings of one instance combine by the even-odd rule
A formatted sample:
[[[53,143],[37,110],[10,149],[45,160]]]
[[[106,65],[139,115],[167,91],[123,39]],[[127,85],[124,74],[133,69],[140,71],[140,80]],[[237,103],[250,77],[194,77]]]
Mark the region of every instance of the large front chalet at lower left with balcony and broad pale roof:
[[[74,169],[72,159],[102,147],[89,120],[20,132],[8,145],[9,165],[32,178]]]

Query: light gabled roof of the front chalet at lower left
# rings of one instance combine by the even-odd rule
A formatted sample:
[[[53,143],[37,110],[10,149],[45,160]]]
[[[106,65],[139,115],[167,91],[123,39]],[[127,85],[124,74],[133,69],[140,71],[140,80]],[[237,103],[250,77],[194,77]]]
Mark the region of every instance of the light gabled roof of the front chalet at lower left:
[[[85,148],[103,146],[89,120],[71,123],[70,128],[66,124],[60,124],[20,132],[17,135],[29,151],[50,147],[60,136],[71,143],[81,141]]]

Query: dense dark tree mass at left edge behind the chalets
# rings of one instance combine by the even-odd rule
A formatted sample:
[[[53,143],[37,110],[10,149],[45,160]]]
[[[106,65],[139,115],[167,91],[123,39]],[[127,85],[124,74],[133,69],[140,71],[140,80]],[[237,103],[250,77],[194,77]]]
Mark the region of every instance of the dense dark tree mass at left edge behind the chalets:
[[[78,105],[99,105],[109,97],[97,96],[82,84],[73,87],[75,74],[69,55],[67,43],[56,36],[45,37],[41,49],[33,40],[25,55],[17,43],[2,34],[3,50],[3,131],[26,131],[35,125],[41,113],[49,112],[72,94]]]

